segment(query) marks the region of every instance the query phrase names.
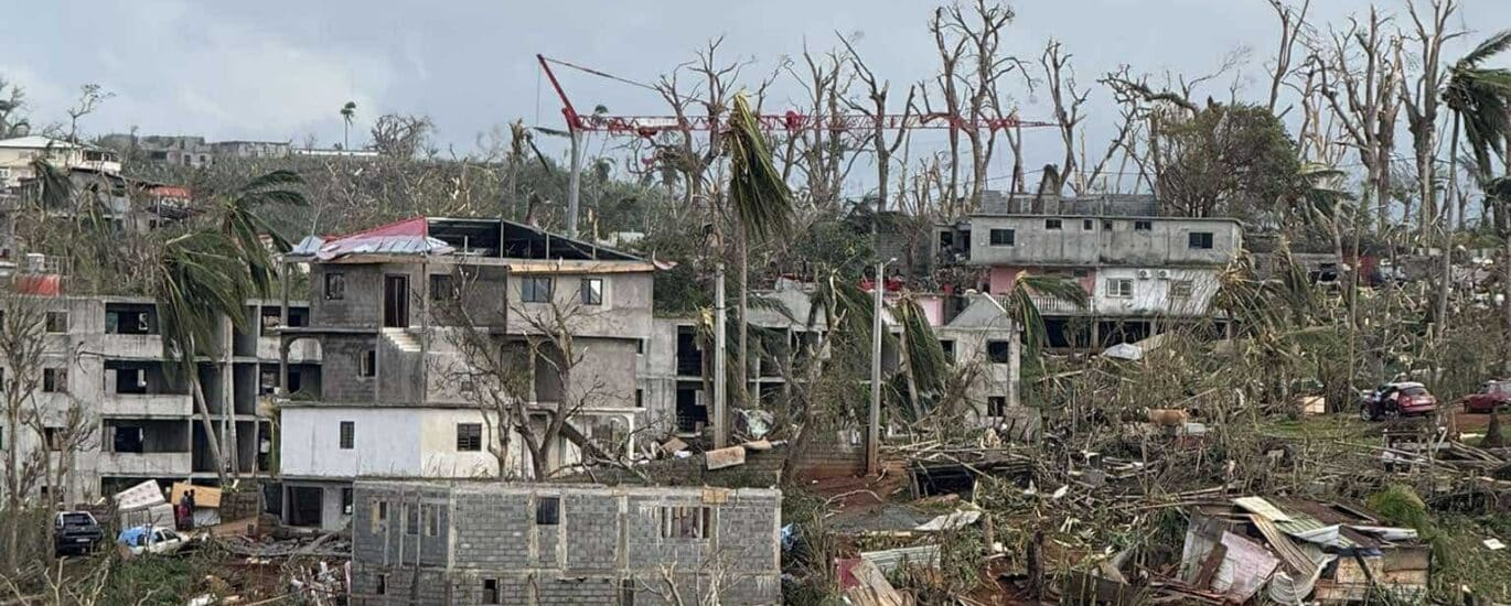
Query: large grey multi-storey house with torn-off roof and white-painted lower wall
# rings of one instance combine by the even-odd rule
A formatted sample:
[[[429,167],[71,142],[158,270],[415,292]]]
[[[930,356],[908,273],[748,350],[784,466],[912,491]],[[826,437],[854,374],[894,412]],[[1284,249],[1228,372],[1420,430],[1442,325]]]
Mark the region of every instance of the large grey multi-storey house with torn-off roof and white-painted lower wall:
[[[530,475],[520,437],[502,464],[490,452],[497,414],[468,376],[479,364],[461,348],[465,334],[524,352],[518,397],[542,423],[568,402],[573,429],[635,447],[650,261],[509,221],[440,218],[307,239],[289,258],[308,263],[311,304],[310,323],[284,329],[284,343],[319,343],[326,369],[317,390],[280,405],[289,523],[345,526],[357,478]],[[468,325],[447,305],[465,307]],[[529,349],[555,326],[571,334],[570,354]],[[550,452],[547,468],[579,459],[565,438]]]

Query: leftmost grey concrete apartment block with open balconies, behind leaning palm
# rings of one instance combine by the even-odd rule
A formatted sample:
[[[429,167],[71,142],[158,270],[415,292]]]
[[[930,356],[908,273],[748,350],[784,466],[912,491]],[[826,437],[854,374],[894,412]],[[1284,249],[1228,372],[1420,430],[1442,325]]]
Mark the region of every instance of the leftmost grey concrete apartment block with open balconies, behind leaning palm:
[[[45,323],[42,381],[35,394],[44,435],[33,428],[8,428],[0,438],[15,440],[23,458],[57,446],[63,423],[77,410],[89,440],[79,452],[50,455],[59,465],[71,459],[62,487],[41,487],[45,497],[65,503],[98,497],[139,484],[192,481],[215,484],[218,473],[205,431],[186,376],[163,358],[157,307],[151,299],[127,296],[36,296]],[[301,323],[308,308],[290,304],[290,323]],[[227,464],[243,475],[270,465],[273,428],[263,403],[278,379],[278,339],[283,305],[246,304],[248,331],[222,320],[221,339],[209,343],[196,364],[215,435]],[[213,352],[213,354],[210,354]],[[319,351],[289,352],[295,385],[319,384]],[[12,369],[6,369],[11,372]]]

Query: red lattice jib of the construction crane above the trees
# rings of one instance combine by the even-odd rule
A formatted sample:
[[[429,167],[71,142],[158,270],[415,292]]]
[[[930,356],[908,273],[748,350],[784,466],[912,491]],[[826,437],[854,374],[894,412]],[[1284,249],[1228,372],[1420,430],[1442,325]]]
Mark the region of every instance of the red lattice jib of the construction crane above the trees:
[[[626,115],[582,115],[573,107],[571,98],[567,97],[567,91],[562,89],[559,80],[556,80],[556,73],[552,71],[552,63],[570,66],[573,70],[582,70],[594,76],[601,76],[610,80],[621,80],[618,77],[604,74],[597,70],[585,68],[580,65],[573,65],[558,59],[547,59],[544,54],[536,54],[535,59],[541,62],[541,70],[545,71],[545,77],[552,80],[552,88],[556,89],[556,95],[562,100],[562,116],[567,118],[567,128],[573,133],[579,131],[600,131],[610,134],[638,134],[644,138],[651,138],[663,131],[684,131],[684,130],[713,130],[718,127],[716,121],[710,116],[668,116],[668,115],[645,115],[645,116],[626,116]],[[623,82],[623,80],[621,80]],[[645,85],[638,85],[645,86]],[[1035,122],[1018,119],[1018,116],[1003,116],[1003,118],[984,118],[984,119],[967,119],[953,113],[884,113],[884,115],[867,115],[867,113],[837,113],[827,116],[810,116],[798,113],[795,110],[787,110],[786,113],[762,113],[756,116],[756,124],[765,130],[831,130],[831,131],[851,131],[851,130],[875,130],[878,125],[884,130],[899,130],[899,128],[937,128],[937,130],[1008,130],[1008,128],[1038,128],[1038,127],[1056,127],[1056,122]]]

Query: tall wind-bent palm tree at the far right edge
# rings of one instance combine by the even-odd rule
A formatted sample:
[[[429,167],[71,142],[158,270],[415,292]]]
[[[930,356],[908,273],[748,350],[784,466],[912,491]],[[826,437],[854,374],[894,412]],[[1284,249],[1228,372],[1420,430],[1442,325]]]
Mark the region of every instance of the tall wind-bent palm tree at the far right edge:
[[[1455,199],[1458,186],[1458,131],[1463,128],[1470,153],[1481,172],[1490,172],[1490,154],[1505,156],[1502,142],[1511,133],[1511,70],[1481,66],[1490,57],[1511,50],[1511,30],[1503,30],[1479,42],[1448,70],[1443,103],[1454,113],[1448,148],[1448,201]],[[1448,207],[1445,204],[1445,207]],[[1463,218],[1460,218],[1463,219]],[[1443,225],[1443,281],[1437,293],[1437,334],[1448,328],[1448,289],[1452,269],[1451,225]]]

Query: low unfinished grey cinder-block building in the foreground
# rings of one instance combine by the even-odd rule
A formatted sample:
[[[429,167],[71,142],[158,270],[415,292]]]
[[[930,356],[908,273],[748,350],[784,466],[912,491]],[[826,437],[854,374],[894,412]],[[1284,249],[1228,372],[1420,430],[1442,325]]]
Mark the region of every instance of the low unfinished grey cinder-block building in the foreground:
[[[777,490],[378,481],[355,490],[355,604],[781,603]]]

